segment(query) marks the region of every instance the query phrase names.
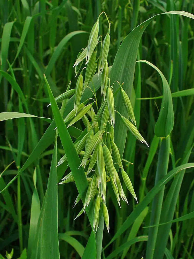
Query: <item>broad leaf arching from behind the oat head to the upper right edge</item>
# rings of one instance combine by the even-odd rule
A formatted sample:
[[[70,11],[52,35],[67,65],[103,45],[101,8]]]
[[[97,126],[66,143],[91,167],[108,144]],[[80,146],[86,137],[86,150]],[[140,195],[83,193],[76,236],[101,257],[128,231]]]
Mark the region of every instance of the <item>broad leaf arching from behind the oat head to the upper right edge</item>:
[[[194,19],[194,15],[184,11],[170,11],[170,12],[165,12],[158,15],[163,15],[163,14],[183,15]],[[136,58],[138,53],[139,42],[141,40],[142,34],[145,31],[146,27],[158,15],[155,15],[149,18],[148,20],[144,21],[142,24],[137,26],[134,30],[132,30],[127,35],[127,37],[123,40],[115,56],[114,63],[110,73],[111,84],[113,84],[115,80],[118,80],[120,83],[124,82],[122,87],[129,97],[131,96],[131,89],[133,86],[135,63],[136,63]],[[115,84],[114,92],[117,90],[117,88],[119,88],[119,86]],[[117,110],[119,113],[121,113],[124,117],[127,117],[127,111],[125,109],[125,105],[121,103],[120,100],[121,100],[121,96],[120,94],[118,94],[117,98],[115,98],[115,106],[117,107]],[[167,127],[170,129],[172,127],[172,124],[170,126],[168,125]],[[114,142],[118,146],[120,155],[122,157],[124,148],[125,148],[127,129],[125,128],[124,125],[122,125],[119,114],[115,114],[114,132],[115,132]],[[166,133],[167,131],[165,132],[165,134]]]

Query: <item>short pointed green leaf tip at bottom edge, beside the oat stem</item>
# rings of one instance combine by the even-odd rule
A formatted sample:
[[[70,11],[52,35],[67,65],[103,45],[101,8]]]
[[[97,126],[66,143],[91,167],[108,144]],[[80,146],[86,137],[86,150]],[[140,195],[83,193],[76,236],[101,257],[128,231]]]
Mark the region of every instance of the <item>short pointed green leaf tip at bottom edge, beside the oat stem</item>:
[[[86,244],[86,248],[82,256],[82,259],[88,259],[88,258],[96,259],[96,240],[95,240],[95,235],[93,231],[90,234],[90,237]]]

